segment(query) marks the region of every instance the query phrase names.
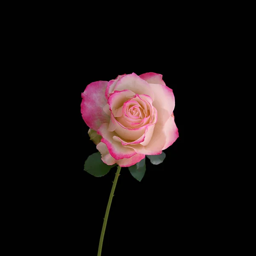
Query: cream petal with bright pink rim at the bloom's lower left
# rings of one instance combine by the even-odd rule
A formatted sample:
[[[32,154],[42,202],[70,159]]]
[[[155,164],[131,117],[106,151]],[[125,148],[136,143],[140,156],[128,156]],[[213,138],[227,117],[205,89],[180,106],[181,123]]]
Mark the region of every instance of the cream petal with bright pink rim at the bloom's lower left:
[[[116,160],[130,158],[136,154],[133,148],[125,148],[121,143],[113,140],[113,136],[116,136],[117,134],[108,131],[108,123],[101,125],[97,132],[102,136],[101,142],[107,145],[109,153]]]

